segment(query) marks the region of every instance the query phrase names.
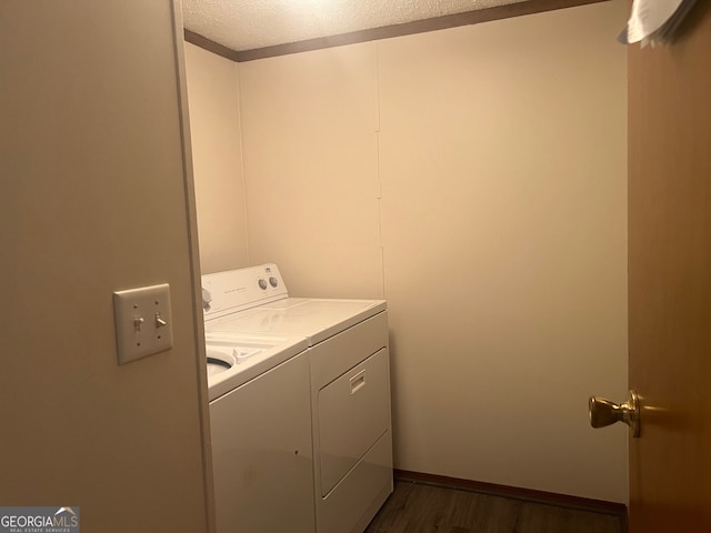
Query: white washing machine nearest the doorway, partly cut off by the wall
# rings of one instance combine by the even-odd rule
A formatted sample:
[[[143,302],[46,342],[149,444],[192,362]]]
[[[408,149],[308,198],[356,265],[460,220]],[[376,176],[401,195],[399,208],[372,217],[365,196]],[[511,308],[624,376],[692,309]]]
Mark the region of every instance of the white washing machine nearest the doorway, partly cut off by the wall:
[[[222,332],[206,344],[218,533],[312,533],[307,340]]]

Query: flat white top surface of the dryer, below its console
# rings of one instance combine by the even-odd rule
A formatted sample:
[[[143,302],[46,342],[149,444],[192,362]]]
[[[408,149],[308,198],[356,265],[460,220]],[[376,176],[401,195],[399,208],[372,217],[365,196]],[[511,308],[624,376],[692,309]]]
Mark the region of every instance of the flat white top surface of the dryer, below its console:
[[[206,322],[206,332],[304,336],[318,344],[385,311],[384,300],[284,298]]]

